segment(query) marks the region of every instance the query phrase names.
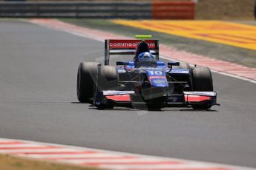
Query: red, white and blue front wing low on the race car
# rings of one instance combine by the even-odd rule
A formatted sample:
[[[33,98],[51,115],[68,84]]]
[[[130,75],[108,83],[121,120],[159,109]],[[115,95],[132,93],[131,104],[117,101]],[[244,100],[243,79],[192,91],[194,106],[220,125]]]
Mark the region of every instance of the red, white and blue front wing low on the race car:
[[[183,94],[171,94],[163,96],[164,101],[160,101],[163,107],[168,106],[188,106],[198,104],[220,105],[217,103],[216,92],[183,92]],[[138,100],[139,99],[139,100]],[[95,104],[114,103],[115,106],[132,106],[134,104],[151,104],[151,101],[144,101],[140,95],[135,95],[134,91],[106,90],[98,92]],[[152,102],[155,104],[156,101]]]

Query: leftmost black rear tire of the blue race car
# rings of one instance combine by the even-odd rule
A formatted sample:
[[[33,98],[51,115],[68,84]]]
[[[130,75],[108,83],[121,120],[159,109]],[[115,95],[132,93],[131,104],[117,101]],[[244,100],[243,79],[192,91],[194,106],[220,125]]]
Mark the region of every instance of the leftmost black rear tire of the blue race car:
[[[79,64],[77,72],[77,99],[81,103],[89,103],[93,98],[93,88],[99,63],[83,62]]]

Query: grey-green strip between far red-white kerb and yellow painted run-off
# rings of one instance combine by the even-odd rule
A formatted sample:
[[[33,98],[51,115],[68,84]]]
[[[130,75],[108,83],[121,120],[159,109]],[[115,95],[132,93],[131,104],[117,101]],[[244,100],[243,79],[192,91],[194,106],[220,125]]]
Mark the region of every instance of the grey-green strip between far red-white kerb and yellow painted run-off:
[[[178,50],[185,50],[187,52],[193,52],[199,55],[206,55],[211,58],[230,61],[245,65],[247,67],[256,67],[256,50],[246,50],[239,47],[232,47],[209,41],[200,41],[192,38],[183,38],[177,35],[168,35],[165,33],[156,33],[133,27],[125,27],[103,19],[62,18],[60,20],[82,27],[105,30],[119,35],[127,35],[131,38],[133,38],[134,35],[153,35],[154,38],[160,40],[160,43],[170,45]]]

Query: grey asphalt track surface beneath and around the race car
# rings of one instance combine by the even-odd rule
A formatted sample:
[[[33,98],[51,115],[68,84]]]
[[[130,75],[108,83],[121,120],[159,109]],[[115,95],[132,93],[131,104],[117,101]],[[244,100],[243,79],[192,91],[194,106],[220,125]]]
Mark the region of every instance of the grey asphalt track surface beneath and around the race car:
[[[0,21],[0,137],[256,168],[256,84],[213,74],[221,106],[97,110],[76,100],[79,62],[104,44]]]

